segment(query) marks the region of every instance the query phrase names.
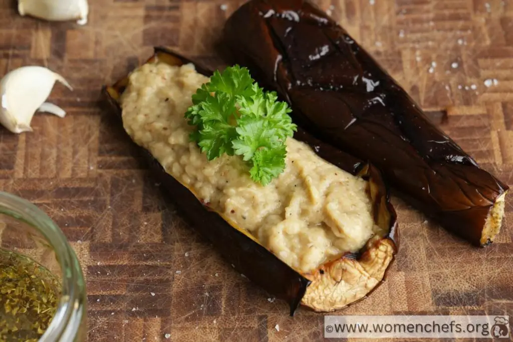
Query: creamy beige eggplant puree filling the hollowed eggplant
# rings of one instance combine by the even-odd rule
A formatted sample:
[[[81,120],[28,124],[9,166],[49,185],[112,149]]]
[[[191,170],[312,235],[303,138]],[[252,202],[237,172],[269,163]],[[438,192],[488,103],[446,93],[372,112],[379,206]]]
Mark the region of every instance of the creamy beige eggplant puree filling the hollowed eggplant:
[[[206,82],[191,64],[146,64],[130,75],[121,99],[124,128],[166,172],[300,272],[360,250],[380,230],[367,182],[293,138],[285,171],[265,187],[251,180],[240,156],[209,162],[190,142],[184,118],[192,94]]]

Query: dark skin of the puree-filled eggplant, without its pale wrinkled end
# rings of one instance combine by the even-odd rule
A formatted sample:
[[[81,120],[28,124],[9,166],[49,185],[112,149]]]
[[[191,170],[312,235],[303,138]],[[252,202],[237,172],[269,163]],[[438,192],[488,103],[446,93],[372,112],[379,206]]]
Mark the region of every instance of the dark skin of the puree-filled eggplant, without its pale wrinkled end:
[[[159,56],[162,60],[166,58],[165,62],[171,65],[193,63],[190,59],[161,47],[155,48],[154,56],[148,62],[152,61],[153,58],[159,59]],[[198,72],[207,76],[212,74],[211,70],[201,66],[201,64],[193,64]],[[125,91],[127,84],[127,78],[124,78],[113,86],[104,87],[102,90],[108,105],[107,110],[114,114],[111,117],[116,120],[117,125],[121,122],[122,113],[118,103],[119,95]],[[316,149],[324,145],[320,140],[312,137],[302,129],[299,129],[294,134],[294,137]],[[141,151],[157,182],[161,183],[161,188],[165,189],[165,193],[175,204],[182,216],[186,218],[187,222],[200,234],[208,238],[212,245],[221,252],[223,257],[236,270],[243,273],[269,293],[286,300],[290,307],[290,315],[292,316],[300,305],[301,299],[305,295],[311,281],[293,270],[262,245],[230,226],[219,214],[201,203],[188,188],[166,173],[161,164],[147,150],[137,145],[135,146]],[[376,189],[377,193],[375,195],[376,200],[373,202],[374,220],[377,224],[385,225],[389,228],[389,233],[383,239],[389,239],[397,251],[399,244],[397,216],[389,202],[388,190],[382,182],[380,172],[372,165],[368,165],[362,160],[332,147],[326,146],[322,151],[323,153],[318,153],[321,157],[328,153],[331,159],[333,159],[332,164],[351,174],[361,175],[369,183],[375,185],[374,189]],[[364,169],[366,170],[365,172],[363,172]],[[359,259],[365,253],[367,251],[362,249],[360,253],[347,253],[341,258]],[[379,284],[371,291],[378,287]]]

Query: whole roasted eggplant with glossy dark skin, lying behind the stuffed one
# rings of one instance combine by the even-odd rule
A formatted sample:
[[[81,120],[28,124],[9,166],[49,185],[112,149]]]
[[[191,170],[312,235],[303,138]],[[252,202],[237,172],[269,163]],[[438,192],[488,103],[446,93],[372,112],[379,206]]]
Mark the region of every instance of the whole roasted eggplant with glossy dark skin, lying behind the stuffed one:
[[[492,242],[508,187],[435,127],[323,11],[303,0],[252,0],[231,15],[223,36],[231,62],[277,90],[295,123],[370,160],[447,230],[478,246]]]

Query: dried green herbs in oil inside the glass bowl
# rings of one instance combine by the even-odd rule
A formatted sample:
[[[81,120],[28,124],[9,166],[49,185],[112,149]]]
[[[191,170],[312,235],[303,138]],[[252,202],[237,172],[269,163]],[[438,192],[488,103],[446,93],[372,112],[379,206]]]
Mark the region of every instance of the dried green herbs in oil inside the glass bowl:
[[[36,261],[0,249],[0,342],[36,342],[57,309],[61,284]]]

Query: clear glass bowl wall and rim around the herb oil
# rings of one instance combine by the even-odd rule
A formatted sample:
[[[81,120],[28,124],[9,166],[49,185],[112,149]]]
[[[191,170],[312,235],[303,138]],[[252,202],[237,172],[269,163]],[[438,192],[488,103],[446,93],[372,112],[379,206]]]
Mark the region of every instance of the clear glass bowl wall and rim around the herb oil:
[[[39,341],[85,341],[84,275],[75,252],[50,217],[25,199],[0,192],[0,249],[37,261],[51,272],[49,281],[61,284],[55,315]]]

